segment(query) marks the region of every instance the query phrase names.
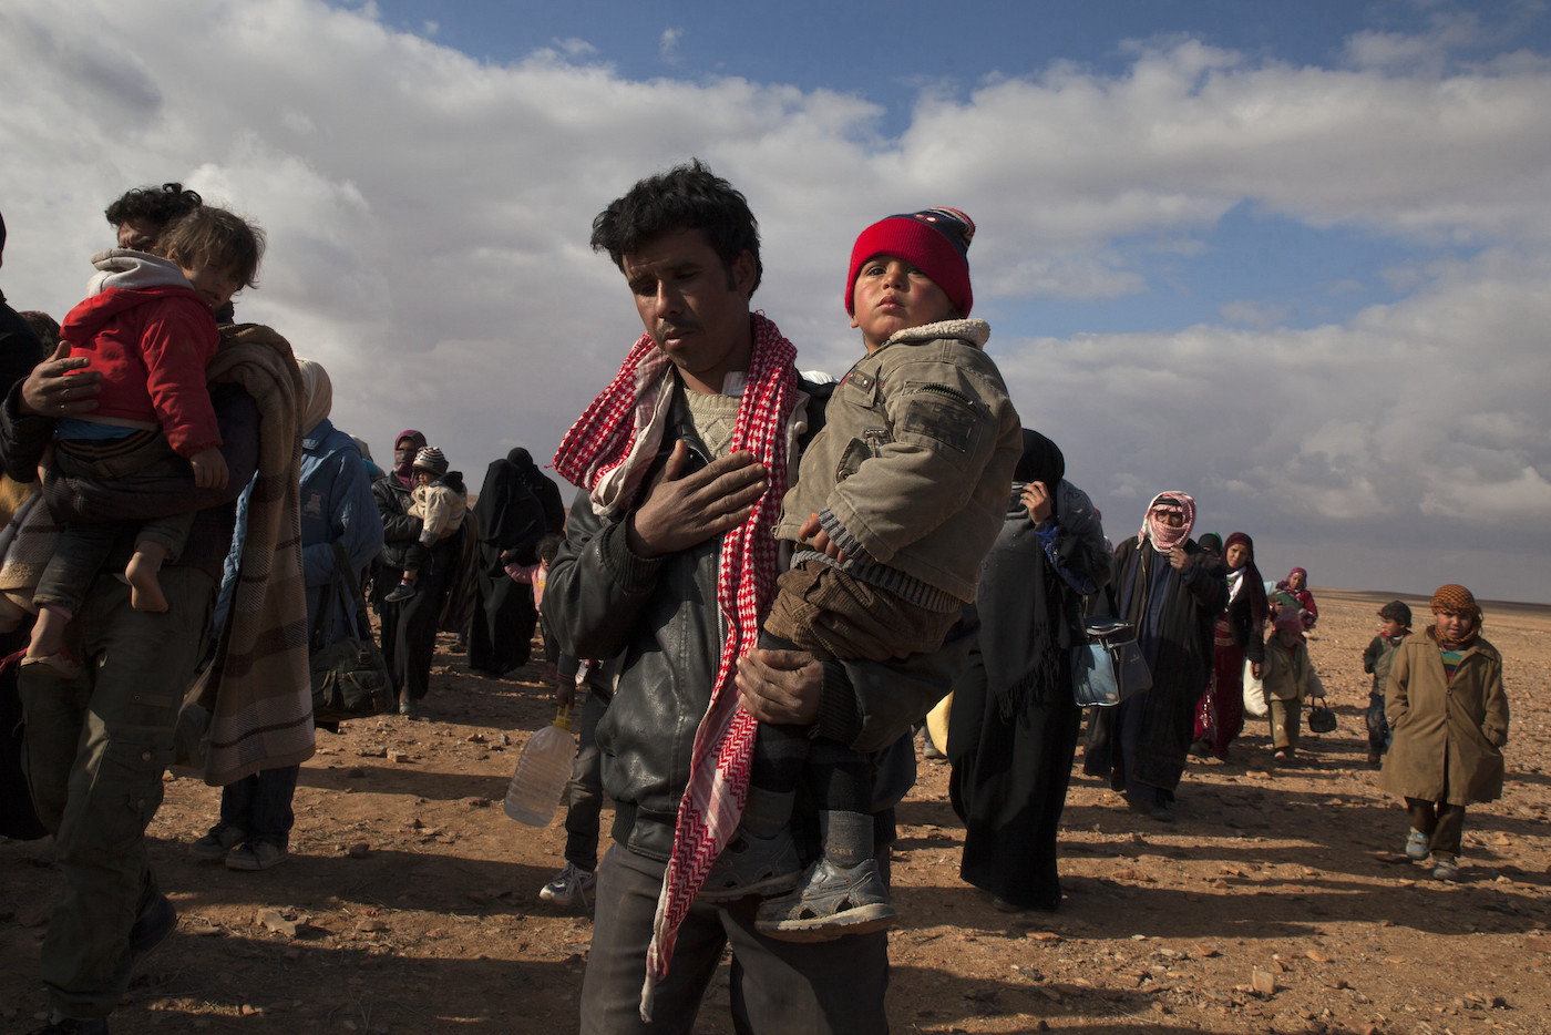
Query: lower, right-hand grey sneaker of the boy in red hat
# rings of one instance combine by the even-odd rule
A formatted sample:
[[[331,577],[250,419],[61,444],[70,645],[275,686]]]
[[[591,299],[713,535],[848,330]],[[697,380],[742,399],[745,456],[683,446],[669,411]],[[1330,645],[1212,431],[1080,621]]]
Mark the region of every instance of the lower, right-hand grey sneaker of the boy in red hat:
[[[820,858],[796,891],[760,905],[754,926],[783,942],[828,942],[884,931],[898,919],[878,875],[878,860],[836,866]]]

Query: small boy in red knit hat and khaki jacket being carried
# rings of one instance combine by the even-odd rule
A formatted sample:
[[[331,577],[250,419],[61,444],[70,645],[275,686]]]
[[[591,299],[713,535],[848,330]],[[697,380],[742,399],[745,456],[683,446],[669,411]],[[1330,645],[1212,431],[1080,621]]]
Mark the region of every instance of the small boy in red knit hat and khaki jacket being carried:
[[[991,334],[968,320],[974,222],[952,208],[890,216],[851,250],[845,310],[867,354],[834,388],[802,455],[776,537],[794,548],[760,647],[822,663],[890,661],[941,647],[974,601],[1002,528],[1022,427]],[[865,717],[853,717],[858,732]],[[763,903],[757,926],[824,940],[890,926],[873,858],[869,756],[805,726],[762,723],[738,838],[703,895],[796,889]],[[796,872],[788,816],[805,782],[824,853]]]

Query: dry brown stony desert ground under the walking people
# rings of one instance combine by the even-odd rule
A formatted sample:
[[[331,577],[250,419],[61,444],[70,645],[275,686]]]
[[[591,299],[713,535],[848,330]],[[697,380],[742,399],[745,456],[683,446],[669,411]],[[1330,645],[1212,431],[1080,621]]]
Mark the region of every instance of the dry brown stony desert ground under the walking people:
[[[1360,655],[1382,597],[1318,602],[1311,650],[1337,732],[1272,770],[1250,720],[1228,763],[1191,763],[1174,826],[1078,773],[1056,914],[996,912],[959,880],[946,767],[921,763],[893,853],[893,1030],[1551,1032],[1551,608],[1487,605],[1514,709],[1508,787],[1470,808],[1461,883],[1441,884],[1397,855],[1405,816],[1365,763]],[[499,805],[551,692],[540,664],[479,680],[450,647],[425,718],[320,732],[273,871],[194,861],[219,791],[168,776],[149,838],[180,920],[116,1033],[575,1030],[589,920],[538,900],[560,818],[534,830]],[[0,841],[0,1030],[25,1032],[43,1016],[50,843]],[[731,1029],[726,973],[701,1032]]]

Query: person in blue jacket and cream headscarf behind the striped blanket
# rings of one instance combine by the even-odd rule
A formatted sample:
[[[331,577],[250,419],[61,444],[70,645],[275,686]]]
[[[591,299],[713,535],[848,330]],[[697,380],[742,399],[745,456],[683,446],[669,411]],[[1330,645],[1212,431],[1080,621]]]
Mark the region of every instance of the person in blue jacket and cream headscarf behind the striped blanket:
[[[366,466],[355,442],[329,421],[333,383],[312,360],[296,360],[301,372],[301,563],[307,587],[307,635],[318,630],[323,644],[338,642],[355,628],[355,607],[333,591],[338,542],[357,577],[383,545],[383,523],[372,500]],[[226,573],[216,604],[216,630],[226,621],[237,588],[237,565],[248,529],[251,483],[237,500],[237,528],[226,554]],[[295,822],[299,765],[262,770],[220,791],[220,821],[194,841],[195,858],[225,861],[228,869],[262,871],[288,853]]]

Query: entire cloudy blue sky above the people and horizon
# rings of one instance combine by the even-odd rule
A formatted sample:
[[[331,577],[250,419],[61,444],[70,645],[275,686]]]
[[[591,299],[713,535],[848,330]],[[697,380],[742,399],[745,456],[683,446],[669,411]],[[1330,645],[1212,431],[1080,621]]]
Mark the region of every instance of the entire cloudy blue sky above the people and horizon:
[[[856,233],[969,211],[988,349],[1114,538],[1185,489],[1267,574],[1548,599],[1543,0],[11,0],[0,96],[12,304],[181,180],[265,227],[239,315],[378,455],[549,455],[639,334],[591,219],[698,155],[811,369],[859,351]]]

